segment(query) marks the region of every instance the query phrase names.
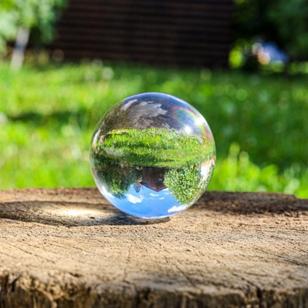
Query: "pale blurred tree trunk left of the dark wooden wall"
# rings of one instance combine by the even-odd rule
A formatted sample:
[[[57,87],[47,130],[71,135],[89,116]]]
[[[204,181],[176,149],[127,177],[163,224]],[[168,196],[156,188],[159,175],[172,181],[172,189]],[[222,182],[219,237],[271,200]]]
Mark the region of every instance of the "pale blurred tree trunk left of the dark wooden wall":
[[[18,29],[15,47],[11,59],[11,69],[19,71],[25,57],[25,50],[29,41],[30,30],[24,27]]]

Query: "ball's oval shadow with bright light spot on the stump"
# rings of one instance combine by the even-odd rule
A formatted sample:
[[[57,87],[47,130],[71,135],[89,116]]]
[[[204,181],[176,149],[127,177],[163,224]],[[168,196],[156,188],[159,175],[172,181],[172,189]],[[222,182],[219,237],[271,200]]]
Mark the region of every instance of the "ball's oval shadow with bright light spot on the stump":
[[[0,204],[0,218],[45,225],[152,225],[169,221],[126,215],[109,204],[57,201],[17,201]]]

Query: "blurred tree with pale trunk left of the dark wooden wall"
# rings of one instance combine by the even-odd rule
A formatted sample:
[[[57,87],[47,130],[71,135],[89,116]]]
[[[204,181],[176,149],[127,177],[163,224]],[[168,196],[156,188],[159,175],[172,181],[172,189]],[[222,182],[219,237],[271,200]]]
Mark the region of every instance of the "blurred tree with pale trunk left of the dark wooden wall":
[[[66,0],[2,0],[0,2],[0,51],[15,41],[11,66],[22,66],[30,31],[35,43],[48,43],[54,34],[59,10]]]

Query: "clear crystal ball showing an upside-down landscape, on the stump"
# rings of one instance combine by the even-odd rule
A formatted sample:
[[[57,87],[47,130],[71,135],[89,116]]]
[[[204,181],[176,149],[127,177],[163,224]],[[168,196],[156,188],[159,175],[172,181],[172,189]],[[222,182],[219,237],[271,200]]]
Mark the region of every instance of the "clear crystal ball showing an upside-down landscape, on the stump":
[[[213,134],[189,103],[141,93],[115,104],[99,121],[90,150],[102,195],[124,213],[164,218],[195,203],[216,162]]]

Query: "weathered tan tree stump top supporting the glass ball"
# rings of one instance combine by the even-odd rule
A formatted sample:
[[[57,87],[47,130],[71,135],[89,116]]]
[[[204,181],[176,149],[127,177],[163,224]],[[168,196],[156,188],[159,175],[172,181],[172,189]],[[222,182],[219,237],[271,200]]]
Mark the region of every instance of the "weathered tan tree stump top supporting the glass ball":
[[[0,307],[308,307],[308,200],[206,192],[161,221],[94,188],[0,191]]]

